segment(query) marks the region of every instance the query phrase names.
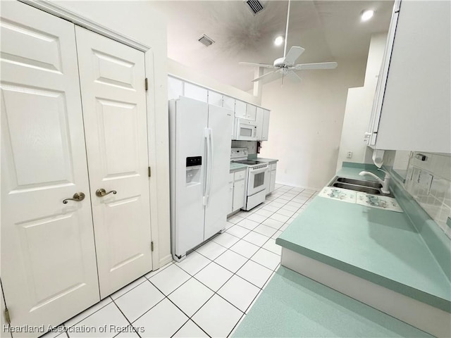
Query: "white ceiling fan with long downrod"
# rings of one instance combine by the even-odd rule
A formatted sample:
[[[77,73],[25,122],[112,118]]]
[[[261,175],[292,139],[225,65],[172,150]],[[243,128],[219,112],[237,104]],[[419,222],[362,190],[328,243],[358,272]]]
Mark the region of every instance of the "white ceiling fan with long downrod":
[[[336,62],[320,62],[320,63],[299,63],[295,65],[295,62],[299,56],[304,52],[305,49],[299,46],[292,46],[290,51],[287,54],[287,40],[288,40],[288,21],[290,20],[290,0],[288,0],[288,14],[287,14],[287,27],[285,30],[285,49],[283,50],[283,58],[277,58],[274,61],[273,65],[266,65],[262,63],[250,63],[250,62],[240,62],[240,65],[252,65],[254,67],[262,67],[262,68],[273,68],[275,70],[265,73],[259,77],[256,77],[252,82],[257,82],[262,80],[265,77],[289,76],[293,80],[301,80],[301,77],[297,75],[296,70],[314,70],[314,69],[334,69],[337,67],[338,63]]]

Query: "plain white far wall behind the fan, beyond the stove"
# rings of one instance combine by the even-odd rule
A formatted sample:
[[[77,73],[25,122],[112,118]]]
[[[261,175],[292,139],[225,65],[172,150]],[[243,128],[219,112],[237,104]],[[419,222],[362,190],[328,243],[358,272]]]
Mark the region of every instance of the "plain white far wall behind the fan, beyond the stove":
[[[335,174],[347,89],[362,85],[365,60],[338,61],[335,70],[305,70],[301,82],[265,84],[271,109],[261,157],[278,158],[276,182],[321,188]]]

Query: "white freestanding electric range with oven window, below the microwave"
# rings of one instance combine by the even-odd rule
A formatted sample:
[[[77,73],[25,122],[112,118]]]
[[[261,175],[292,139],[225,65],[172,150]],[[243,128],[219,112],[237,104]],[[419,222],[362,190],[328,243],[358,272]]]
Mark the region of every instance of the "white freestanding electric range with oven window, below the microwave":
[[[232,148],[230,161],[247,165],[247,187],[245,210],[251,210],[263,203],[266,197],[266,185],[271,173],[268,163],[264,161],[248,160],[246,148]]]

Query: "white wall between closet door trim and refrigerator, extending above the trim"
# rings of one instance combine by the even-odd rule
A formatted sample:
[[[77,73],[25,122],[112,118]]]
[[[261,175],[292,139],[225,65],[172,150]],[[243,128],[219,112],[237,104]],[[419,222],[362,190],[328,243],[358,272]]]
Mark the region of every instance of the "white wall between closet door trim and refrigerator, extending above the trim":
[[[167,42],[166,22],[152,8],[148,1],[54,1],[65,7],[109,27],[123,35],[152,47],[154,58],[153,77],[150,90],[154,91],[152,111],[149,120],[155,130],[156,168],[152,168],[151,186],[156,189],[152,206],[156,206],[157,219],[152,215],[152,222],[158,225],[158,237],[152,235],[159,255],[160,265],[171,261],[171,232],[169,218],[169,146],[168,146],[168,100],[167,100]],[[146,65],[148,67],[149,65]],[[153,135],[151,135],[152,137]],[[155,211],[155,208],[153,209]],[[159,268],[155,267],[154,268]]]

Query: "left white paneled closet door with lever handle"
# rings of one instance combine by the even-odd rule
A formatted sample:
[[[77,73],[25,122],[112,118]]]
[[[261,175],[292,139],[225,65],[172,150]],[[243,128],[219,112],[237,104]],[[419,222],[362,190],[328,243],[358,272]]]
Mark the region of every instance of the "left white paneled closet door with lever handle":
[[[0,20],[1,282],[11,325],[47,327],[99,301],[74,25],[18,1]]]

